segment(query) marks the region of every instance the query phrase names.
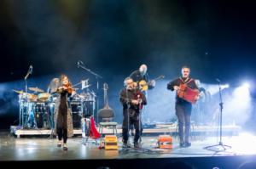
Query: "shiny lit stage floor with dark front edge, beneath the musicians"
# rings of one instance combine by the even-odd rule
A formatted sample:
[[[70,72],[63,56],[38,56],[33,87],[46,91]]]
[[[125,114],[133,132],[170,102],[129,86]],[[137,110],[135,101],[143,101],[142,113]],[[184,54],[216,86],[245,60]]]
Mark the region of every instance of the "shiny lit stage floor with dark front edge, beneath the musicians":
[[[161,127],[160,127],[161,126]],[[118,128],[118,150],[99,149],[99,140],[89,138],[85,143],[84,138],[77,134],[67,141],[68,150],[63,151],[56,146],[56,138],[51,137],[49,131],[36,130],[41,134],[34,134],[35,131],[20,131],[26,135],[15,135],[15,132],[1,132],[0,161],[26,164],[33,162],[71,162],[74,164],[90,164],[91,168],[108,166],[110,168],[137,168],[142,165],[148,168],[165,168],[170,163],[182,161],[195,168],[236,168],[243,161],[255,159],[256,155],[256,136],[241,131],[241,127],[223,127],[223,144],[231,146],[231,149],[205,149],[207,146],[219,144],[217,128],[214,127],[195,127],[191,133],[191,147],[180,148],[177,139],[177,128],[170,125],[160,125],[158,128],[146,128],[142,138],[142,149],[122,148],[122,138],[120,128]],[[13,128],[14,129],[14,128]],[[215,130],[215,132],[214,132]],[[30,134],[27,134],[30,132]],[[45,132],[46,134],[43,134]],[[106,129],[104,133],[111,133]],[[168,134],[172,136],[172,149],[159,149],[158,136]],[[130,138],[131,145],[132,137]],[[203,160],[203,161],[202,161]],[[131,162],[136,161],[136,162]],[[232,161],[232,162],[228,162]],[[21,162],[21,163],[20,163]],[[133,164],[134,163],[134,164]],[[135,165],[137,164],[137,165]],[[131,167],[132,166],[132,167]]]

